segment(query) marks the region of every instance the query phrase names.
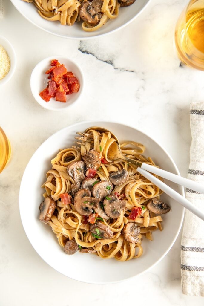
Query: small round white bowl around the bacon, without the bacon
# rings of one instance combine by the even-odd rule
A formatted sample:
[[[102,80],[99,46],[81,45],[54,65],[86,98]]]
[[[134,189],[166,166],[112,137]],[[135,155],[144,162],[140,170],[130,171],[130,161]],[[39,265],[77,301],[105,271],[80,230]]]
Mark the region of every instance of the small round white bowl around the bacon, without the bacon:
[[[80,84],[80,89],[78,92],[74,92],[71,95],[66,95],[67,101],[66,103],[56,101],[55,98],[51,98],[49,102],[44,101],[39,93],[46,88],[47,82],[49,81],[47,79],[48,75],[45,74],[46,70],[48,70],[51,66],[51,60],[57,59],[61,64],[64,64],[67,71],[72,71],[74,76],[77,77]],[[73,103],[75,103],[78,99],[80,99],[80,96],[83,92],[84,87],[84,77],[83,72],[80,68],[80,66],[74,62],[73,60],[66,58],[64,56],[60,55],[54,55],[50,56],[48,58],[44,58],[41,62],[39,62],[35,68],[33,69],[31,73],[31,79],[30,79],[30,87],[32,94],[35,98],[35,100],[43,107],[48,110],[54,110],[54,111],[62,111],[69,106],[71,106]]]

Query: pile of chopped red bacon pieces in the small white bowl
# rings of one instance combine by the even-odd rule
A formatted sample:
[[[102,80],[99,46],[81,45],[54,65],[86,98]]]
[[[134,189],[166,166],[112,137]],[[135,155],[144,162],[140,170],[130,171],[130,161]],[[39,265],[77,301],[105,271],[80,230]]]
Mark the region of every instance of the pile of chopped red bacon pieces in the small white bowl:
[[[66,102],[66,95],[78,92],[80,84],[72,71],[67,71],[65,65],[61,65],[58,60],[51,61],[51,67],[45,72],[48,74],[48,86],[39,93],[41,98],[49,102],[52,97],[56,101]],[[95,174],[94,174],[95,175]]]

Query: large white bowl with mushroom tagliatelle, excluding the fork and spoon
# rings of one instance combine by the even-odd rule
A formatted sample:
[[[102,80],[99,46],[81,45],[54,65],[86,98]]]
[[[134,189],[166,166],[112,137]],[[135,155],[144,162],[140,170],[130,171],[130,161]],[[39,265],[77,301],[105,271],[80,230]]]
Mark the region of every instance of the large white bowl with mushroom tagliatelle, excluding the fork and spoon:
[[[32,246],[55,270],[82,282],[120,282],[147,271],[172,247],[184,217],[184,208],[136,166],[110,160],[117,141],[124,156],[179,174],[143,132],[89,121],[50,136],[20,185],[20,216]],[[168,184],[184,196],[183,187]]]

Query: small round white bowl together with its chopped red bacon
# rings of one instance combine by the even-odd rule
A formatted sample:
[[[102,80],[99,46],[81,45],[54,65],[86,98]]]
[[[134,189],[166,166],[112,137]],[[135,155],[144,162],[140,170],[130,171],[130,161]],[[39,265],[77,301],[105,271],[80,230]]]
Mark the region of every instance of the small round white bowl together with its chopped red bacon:
[[[30,86],[35,100],[49,110],[65,110],[79,99],[83,73],[72,60],[52,56],[39,62],[32,71]]]

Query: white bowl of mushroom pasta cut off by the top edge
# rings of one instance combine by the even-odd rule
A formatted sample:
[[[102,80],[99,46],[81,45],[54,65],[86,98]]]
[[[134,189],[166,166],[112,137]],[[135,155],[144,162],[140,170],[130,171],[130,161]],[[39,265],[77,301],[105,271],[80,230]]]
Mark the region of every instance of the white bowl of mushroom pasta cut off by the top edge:
[[[88,39],[130,23],[150,0],[11,0],[28,21],[51,34]]]

